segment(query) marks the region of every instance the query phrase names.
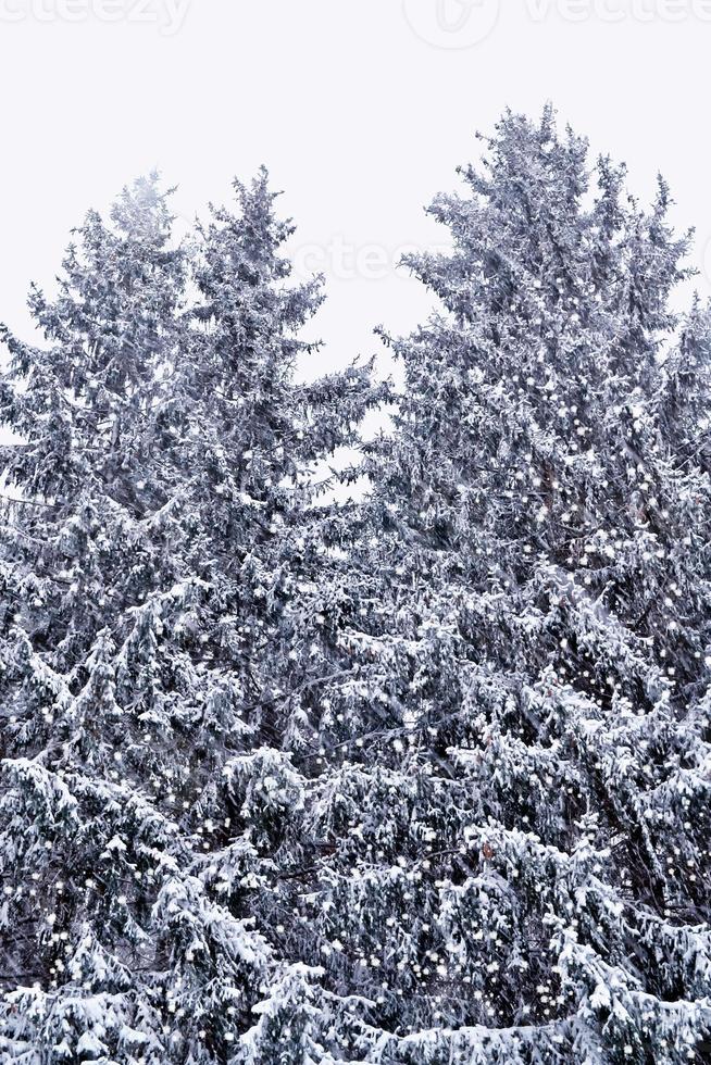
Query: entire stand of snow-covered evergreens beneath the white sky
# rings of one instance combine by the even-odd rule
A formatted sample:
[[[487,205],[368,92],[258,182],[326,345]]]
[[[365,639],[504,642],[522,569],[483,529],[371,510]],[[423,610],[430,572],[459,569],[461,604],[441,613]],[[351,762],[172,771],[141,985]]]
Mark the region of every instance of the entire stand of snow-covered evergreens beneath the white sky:
[[[709,1060],[711,316],[662,181],[484,147],[397,393],[296,372],[265,173],[2,328],[2,1063]]]

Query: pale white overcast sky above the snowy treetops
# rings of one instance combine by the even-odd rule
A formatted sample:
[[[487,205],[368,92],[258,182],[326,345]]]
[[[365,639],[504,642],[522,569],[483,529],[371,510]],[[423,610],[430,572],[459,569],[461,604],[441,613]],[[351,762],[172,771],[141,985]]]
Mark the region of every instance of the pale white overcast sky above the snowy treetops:
[[[28,281],[133,177],[160,168],[187,218],[263,162],[327,277],[323,367],[375,352],[428,305],[389,265],[441,240],[424,204],[476,129],[547,100],[639,196],[661,170],[702,268],[710,49],[711,0],[0,0],[0,321],[28,335]]]

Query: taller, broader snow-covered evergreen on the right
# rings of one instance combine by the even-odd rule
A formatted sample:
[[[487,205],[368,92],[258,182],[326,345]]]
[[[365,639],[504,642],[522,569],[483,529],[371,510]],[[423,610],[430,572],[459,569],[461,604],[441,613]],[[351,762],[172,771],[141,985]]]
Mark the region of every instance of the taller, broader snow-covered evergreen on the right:
[[[711,321],[670,310],[662,181],[643,210],[550,110],[487,148],[432,208],[451,253],[409,261],[441,311],[388,340],[345,676],[294,760],[324,1056],[286,1060],[700,1062]]]

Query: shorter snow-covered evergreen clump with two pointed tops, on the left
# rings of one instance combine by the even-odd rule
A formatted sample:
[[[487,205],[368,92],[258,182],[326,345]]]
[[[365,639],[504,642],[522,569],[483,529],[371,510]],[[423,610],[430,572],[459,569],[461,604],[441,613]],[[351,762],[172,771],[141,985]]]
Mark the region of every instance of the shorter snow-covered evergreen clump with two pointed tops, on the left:
[[[3,330],[3,1061],[225,1062],[303,981],[273,861],[301,817],[289,604],[339,525],[311,468],[381,390],[296,378],[320,286],[288,280],[266,174],[236,191],[176,249],[137,183],[33,291],[46,344]]]

